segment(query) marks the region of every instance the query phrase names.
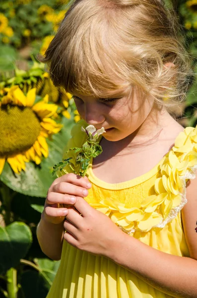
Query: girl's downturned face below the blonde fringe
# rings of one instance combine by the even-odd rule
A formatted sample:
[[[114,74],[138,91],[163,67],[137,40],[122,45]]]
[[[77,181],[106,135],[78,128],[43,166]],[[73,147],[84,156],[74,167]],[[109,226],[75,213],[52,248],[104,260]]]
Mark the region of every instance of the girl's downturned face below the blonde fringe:
[[[147,119],[153,108],[153,100],[140,100],[136,92],[114,98],[96,98],[74,94],[74,102],[83,120],[96,129],[104,127],[103,137],[108,141],[120,141],[135,132]],[[117,98],[115,98],[117,97]]]

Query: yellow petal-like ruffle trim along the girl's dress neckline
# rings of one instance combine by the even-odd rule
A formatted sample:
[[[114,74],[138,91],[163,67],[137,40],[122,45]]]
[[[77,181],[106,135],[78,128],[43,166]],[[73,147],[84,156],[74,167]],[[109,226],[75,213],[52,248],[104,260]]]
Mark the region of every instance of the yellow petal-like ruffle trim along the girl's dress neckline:
[[[68,148],[81,147],[85,142],[81,126],[86,127],[88,124],[81,120],[74,126]],[[73,151],[71,154],[74,159]],[[90,205],[109,216],[128,234],[136,230],[147,232],[154,227],[163,228],[177,217],[187,203],[186,183],[196,177],[197,127],[187,127],[178,135],[174,147],[162,158],[157,169],[154,194],[143,200],[140,208],[125,208],[125,204],[112,198]],[[58,174],[65,174],[64,169]]]

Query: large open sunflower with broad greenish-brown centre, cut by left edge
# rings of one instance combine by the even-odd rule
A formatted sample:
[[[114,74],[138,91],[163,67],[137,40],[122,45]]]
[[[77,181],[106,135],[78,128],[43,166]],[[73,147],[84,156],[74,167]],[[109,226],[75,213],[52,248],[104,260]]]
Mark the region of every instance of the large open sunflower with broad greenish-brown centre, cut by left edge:
[[[51,117],[58,106],[48,103],[48,94],[35,103],[36,88],[25,96],[18,85],[4,88],[0,100],[0,173],[7,161],[15,173],[30,160],[40,164],[48,156],[46,138],[57,134],[61,124]]]

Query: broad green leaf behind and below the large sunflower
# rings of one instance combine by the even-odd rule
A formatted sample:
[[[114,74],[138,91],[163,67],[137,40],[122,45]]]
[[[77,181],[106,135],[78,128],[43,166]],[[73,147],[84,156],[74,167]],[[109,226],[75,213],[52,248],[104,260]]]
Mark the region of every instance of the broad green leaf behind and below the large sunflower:
[[[52,176],[53,166],[62,159],[74,122],[64,118],[63,124],[64,127],[61,132],[54,135],[53,140],[47,140],[49,145],[48,158],[43,158],[39,166],[33,162],[27,162],[25,172],[21,171],[20,174],[14,174],[6,162],[0,175],[0,180],[9,188],[21,194],[46,197],[47,190],[56,178]]]

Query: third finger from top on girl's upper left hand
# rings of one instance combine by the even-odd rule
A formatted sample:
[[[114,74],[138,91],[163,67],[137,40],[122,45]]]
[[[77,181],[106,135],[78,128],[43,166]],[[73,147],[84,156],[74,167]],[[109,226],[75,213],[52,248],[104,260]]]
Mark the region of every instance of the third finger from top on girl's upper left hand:
[[[50,192],[47,195],[46,201],[49,205],[53,204],[66,204],[66,205],[72,205],[76,202],[75,196],[70,196],[67,194],[60,194],[55,192]]]

